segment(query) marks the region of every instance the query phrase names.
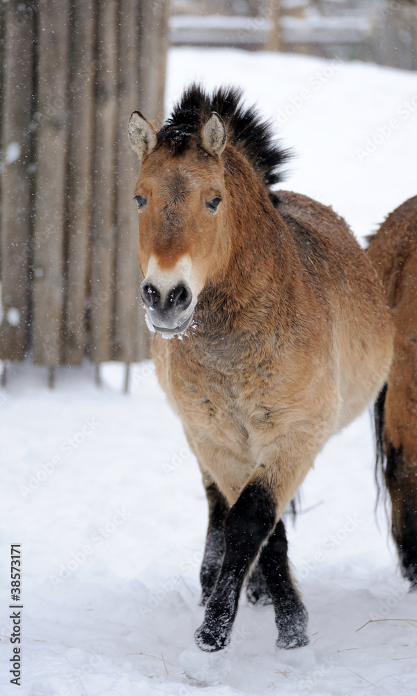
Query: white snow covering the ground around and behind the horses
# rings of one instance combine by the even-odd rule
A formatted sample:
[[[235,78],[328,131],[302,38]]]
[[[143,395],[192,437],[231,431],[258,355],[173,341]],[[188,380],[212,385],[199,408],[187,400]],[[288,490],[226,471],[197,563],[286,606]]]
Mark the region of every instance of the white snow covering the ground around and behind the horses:
[[[193,78],[242,85],[299,155],[288,188],[331,203],[358,235],[416,193],[416,74],[175,49],[168,76],[168,106]],[[375,524],[368,413],[327,445],[288,523],[311,646],[276,651],[272,608],[242,597],[228,671],[201,686],[180,657],[203,617],[198,468],[152,363],[135,367],[128,396],[123,366],[103,379],[99,390],[91,368],[61,370],[50,391],[45,370],[20,365],[0,392],[1,695],[415,695],[417,594],[383,514]],[[22,544],[20,687],[8,672],[10,544]]]

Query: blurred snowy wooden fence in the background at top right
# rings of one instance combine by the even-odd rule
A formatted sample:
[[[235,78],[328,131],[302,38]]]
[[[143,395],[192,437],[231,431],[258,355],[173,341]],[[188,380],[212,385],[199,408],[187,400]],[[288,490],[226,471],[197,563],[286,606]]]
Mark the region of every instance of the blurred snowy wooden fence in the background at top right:
[[[279,50],[417,70],[417,0],[187,0],[173,8],[171,45]],[[244,15],[236,14],[239,8]]]

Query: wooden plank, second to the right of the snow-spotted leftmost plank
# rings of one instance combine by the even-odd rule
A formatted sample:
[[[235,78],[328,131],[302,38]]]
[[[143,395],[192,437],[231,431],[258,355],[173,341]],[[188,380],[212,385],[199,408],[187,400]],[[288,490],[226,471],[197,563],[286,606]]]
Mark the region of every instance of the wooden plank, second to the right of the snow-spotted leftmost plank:
[[[81,363],[86,347],[85,314],[90,265],[95,86],[93,0],[72,2],[71,19],[69,202],[63,362],[77,365]]]

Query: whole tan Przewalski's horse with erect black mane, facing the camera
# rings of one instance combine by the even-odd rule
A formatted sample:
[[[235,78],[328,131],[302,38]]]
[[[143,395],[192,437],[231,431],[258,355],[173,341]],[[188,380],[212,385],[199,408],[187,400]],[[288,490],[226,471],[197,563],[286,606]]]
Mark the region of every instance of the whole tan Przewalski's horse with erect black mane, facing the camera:
[[[241,98],[192,85],[159,132],[137,111],[129,120],[157,375],[209,504],[205,651],[228,643],[251,571],[278,646],[308,642],[281,515],[329,437],[375,399],[392,352],[365,253],[330,208],[270,191],[287,153]]]

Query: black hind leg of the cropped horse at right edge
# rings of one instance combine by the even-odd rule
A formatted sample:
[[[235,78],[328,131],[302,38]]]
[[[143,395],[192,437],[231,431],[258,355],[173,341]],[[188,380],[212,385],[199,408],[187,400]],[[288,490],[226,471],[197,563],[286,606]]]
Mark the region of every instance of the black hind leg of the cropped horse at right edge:
[[[417,590],[417,466],[400,445],[386,443],[385,480],[391,497],[392,535],[404,578]]]

